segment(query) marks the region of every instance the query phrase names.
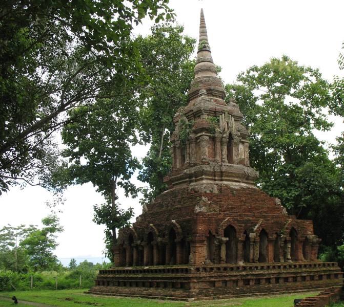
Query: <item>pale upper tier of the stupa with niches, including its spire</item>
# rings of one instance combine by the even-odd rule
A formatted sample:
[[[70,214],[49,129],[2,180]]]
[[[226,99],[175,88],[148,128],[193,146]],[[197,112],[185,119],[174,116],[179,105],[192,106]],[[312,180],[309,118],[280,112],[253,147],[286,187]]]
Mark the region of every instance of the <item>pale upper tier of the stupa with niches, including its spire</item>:
[[[254,186],[258,174],[250,167],[249,133],[235,101],[224,100],[203,10],[194,72],[189,104],[179,108],[173,119],[172,171],[165,182],[169,187],[206,182]]]

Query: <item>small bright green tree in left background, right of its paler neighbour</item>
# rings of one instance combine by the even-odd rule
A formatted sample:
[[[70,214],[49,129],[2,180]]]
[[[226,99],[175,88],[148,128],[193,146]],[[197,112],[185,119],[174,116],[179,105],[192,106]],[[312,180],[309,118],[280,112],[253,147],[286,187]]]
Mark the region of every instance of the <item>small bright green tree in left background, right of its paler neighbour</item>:
[[[56,215],[48,215],[42,219],[45,227],[31,232],[22,242],[29,257],[29,265],[34,271],[52,270],[57,266],[57,257],[53,251],[58,246],[56,233],[62,232]]]

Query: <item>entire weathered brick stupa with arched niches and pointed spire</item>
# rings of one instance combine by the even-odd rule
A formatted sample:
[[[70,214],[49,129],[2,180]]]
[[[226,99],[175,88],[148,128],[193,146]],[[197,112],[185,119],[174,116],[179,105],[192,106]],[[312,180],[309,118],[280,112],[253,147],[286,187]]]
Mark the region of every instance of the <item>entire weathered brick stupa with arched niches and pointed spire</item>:
[[[224,101],[203,10],[194,72],[174,117],[168,189],[119,231],[115,267],[89,293],[186,300],[339,286],[337,264],[317,260],[312,221],[254,184],[249,133]]]

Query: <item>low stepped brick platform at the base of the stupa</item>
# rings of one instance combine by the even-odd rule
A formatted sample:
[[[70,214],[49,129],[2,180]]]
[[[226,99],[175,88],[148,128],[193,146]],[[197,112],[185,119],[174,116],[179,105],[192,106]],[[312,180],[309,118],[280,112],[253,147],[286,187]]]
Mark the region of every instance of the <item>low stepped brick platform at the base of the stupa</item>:
[[[87,293],[169,300],[213,299],[339,287],[334,262],[156,266],[101,270]]]

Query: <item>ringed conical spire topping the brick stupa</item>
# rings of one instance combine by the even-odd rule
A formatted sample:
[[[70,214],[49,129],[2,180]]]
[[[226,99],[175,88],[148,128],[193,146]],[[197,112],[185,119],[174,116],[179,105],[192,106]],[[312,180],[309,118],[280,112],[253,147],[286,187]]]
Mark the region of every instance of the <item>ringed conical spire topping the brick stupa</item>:
[[[211,56],[203,9],[200,10],[199,41],[194,72],[195,78],[189,91],[190,100],[197,97],[200,90],[206,90],[211,96],[225,97],[225,91],[221,80],[217,77],[216,66]]]

